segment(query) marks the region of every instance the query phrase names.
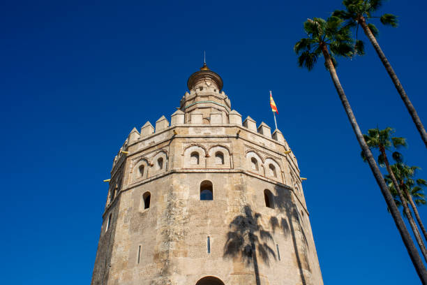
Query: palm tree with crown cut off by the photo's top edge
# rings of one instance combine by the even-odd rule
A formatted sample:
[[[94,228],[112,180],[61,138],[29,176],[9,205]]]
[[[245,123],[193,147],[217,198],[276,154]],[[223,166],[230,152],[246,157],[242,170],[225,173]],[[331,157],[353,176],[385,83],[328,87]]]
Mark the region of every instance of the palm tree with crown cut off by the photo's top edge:
[[[400,94],[400,98],[402,98],[405,106],[412,117],[412,121],[414,121],[415,126],[421,135],[421,139],[424,141],[424,144],[427,147],[427,133],[426,129],[424,129],[424,125],[421,123],[421,119],[417,114],[417,110],[415,110],[414,105],[412,105],[410,98],[406,95],[405,89],[403,89],[402,84],[400,83],[396,73],[394,72],[389,60],[385,56],[384,52],[382,52],[380,44],[378,44],[377,39],[375,38],[378,35],[378,29],[374,24],[368,23],[367,20],[371,18],[377,18],[372,15],[376,10],[378,10],[381,6],[383,0],[344,0],[343,4],[346,10],[336,10],[332,15],[340,17],[341,19],[346,21],[346,25],[348,27],[357,27],[359,26],[364,30],[366,36],[369,38],[370,43],[372,43],[375,51],[380,57],[382,64],[386,68],[387,73],[393,81],[394,86]],[[380,22],[384,25],[389,25],[391,27],[397,27],[398,21],[397,17],[392,14],[384,14],[380,18]],[[363,53],[363,42],[356,42],[357,47]]]

